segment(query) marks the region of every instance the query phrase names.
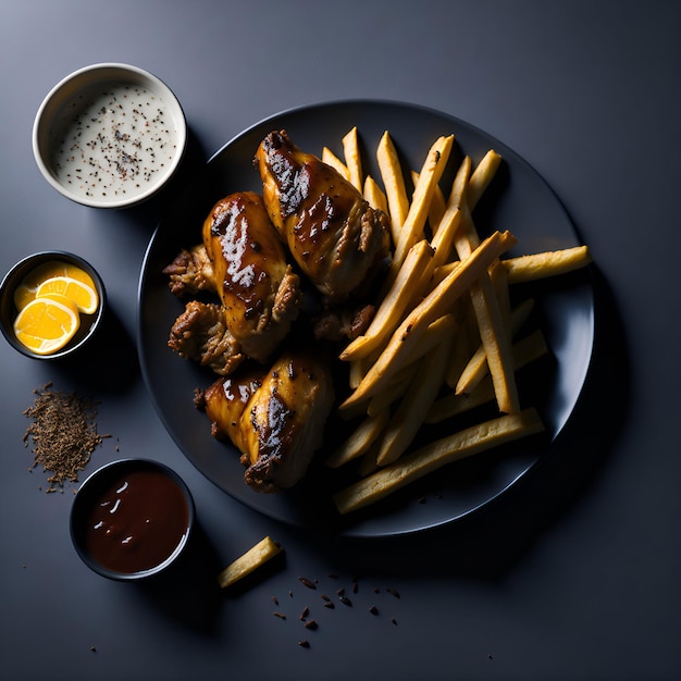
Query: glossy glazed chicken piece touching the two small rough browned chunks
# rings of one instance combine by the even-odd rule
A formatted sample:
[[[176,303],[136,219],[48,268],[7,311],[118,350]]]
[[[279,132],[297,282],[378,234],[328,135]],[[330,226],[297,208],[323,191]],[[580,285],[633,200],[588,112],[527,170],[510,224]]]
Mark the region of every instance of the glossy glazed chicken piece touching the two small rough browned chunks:
[[[230,332],[246,355],[267,361],[300,308],[300,280],[262,198],[232,194],[203,223],[203,244]]]

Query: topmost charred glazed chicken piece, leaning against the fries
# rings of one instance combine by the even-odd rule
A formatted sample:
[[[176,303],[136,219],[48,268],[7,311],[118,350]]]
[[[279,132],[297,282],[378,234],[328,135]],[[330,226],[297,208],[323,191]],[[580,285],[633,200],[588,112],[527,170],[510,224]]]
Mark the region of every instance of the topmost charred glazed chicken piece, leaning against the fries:
[[[388,253],[385,213],[285,131],[262,140],[255,162],[270,218],[299,268],[324,296],[346,299]]]

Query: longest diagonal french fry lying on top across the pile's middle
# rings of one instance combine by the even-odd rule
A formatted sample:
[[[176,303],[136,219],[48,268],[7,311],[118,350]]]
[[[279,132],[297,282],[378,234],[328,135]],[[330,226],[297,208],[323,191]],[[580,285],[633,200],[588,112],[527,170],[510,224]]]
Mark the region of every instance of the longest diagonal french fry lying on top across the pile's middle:
[[[516,238],[509,232],[495,232],[443,280],[397,327],[385,350],[355,392],[340,405],[340,410],[371,397],[383,381],[409,363],[409,356],[418,351],[419,342],[428,325],[446,314],[455,300],[469,290],[490,264],[515,244]]]

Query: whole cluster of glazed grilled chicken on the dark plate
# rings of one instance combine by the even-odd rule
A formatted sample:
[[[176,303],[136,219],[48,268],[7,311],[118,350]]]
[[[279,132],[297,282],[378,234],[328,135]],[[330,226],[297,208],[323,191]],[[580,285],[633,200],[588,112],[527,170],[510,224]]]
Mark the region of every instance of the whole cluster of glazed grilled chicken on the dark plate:
[[[301,280],[317,292],[318,308],[352,301],[388,255],[389,237],[386,215],[284,131],[265,137],[256,165],[263,196],[238,191],[218,201],[201,244],[183,249],[164,273],[178,297],[218,298],[189,300],[169,346],[221,376],[197,391],[195,404],[212,434],[240,451],[246,483],[273,492],[299,482],[323,442],[334,387],[318,338],[355,333],[370,319],[362,305],[321,324],[299,320]],[[294,325],[296,348],[306,349],[292,354],[281,347]]]

